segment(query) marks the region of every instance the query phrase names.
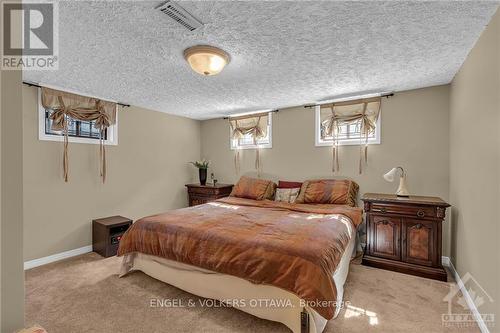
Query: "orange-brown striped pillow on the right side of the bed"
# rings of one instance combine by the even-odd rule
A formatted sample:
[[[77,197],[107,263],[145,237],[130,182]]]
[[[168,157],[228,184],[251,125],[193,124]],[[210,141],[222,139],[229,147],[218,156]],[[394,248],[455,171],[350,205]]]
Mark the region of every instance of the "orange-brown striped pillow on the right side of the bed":
[[[359,186],[347,179],[308,180],[302,184],[296,203],[356,206]]]

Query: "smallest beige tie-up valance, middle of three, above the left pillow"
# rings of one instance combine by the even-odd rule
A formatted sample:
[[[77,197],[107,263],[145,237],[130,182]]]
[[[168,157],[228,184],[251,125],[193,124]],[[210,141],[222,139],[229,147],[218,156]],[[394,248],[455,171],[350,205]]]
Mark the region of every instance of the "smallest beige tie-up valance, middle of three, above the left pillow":
[[[253,142],[257,145],[257,140],[267,136],[267,124],[269,122],[269,112],[251,114],[247,116],[230,117],[231,139],[239,140],[245,135],[251,135]],[[236,149],[234,155],[234,168],[236,174],[240,173],[240,150]],[[260,160],[260,149],[255,151],[255,169],[260,175],[262,163]]]

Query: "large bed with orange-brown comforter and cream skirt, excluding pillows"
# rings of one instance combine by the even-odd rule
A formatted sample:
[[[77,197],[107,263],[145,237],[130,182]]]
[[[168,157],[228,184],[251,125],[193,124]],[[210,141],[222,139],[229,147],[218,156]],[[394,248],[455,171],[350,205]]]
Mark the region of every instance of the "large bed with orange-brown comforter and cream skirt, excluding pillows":
[[[120,276],[140,270],[294,333],[322,332],[341,309],[362,211],[228,197],[138,220]]]

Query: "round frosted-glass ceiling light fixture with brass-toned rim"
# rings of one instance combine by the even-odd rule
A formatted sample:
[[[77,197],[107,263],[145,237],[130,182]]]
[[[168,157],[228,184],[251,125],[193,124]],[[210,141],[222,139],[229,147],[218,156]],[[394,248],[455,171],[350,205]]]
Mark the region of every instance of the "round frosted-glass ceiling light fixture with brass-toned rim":
[[[229,63],[229,55],[209,45],[196,45],[184,50],[184,58],[198,74],[209,76],[219,74]]]

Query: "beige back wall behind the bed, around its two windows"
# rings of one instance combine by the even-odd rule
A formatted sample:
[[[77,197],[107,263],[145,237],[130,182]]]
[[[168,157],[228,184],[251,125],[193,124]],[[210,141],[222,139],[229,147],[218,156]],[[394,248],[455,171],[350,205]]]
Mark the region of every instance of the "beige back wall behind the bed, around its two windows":
[[[369,146],[368,168],[358,175],[358,146],[341,147],[340,176],[352,178],[360,192],[394,193],[396,183],[382,174],[401,165],[408,171],[412,194],[448,199],[449,87],[437,86],[397,93],[382,102],[382,143]],[[235,182],[234,153],[229,149],[227,120],[201,124],[202,157],[212,161],[222,182]],[[241,173],[253,172],[255,151],[243,150]],[[304,180],[332,177],[330,147],[314,146],[314,110],[296,107],[273,114],[273,148],[262,150],[263,177]],[[210,171],[209,171],[210,172]],[[444,254],[448,254],[448,224],[444,226]]]

